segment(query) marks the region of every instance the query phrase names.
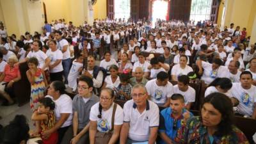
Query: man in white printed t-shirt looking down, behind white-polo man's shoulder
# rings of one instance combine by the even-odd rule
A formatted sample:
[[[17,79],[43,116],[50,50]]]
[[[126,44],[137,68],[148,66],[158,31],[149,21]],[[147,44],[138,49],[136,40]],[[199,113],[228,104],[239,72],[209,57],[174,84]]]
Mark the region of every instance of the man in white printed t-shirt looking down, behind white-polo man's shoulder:
[[[157,78],[148,81],[145,86],[150,99],[159,106],[168,107],[170,104],[173,85],[168,80],[169,76],[166,72],[159,72]]]

